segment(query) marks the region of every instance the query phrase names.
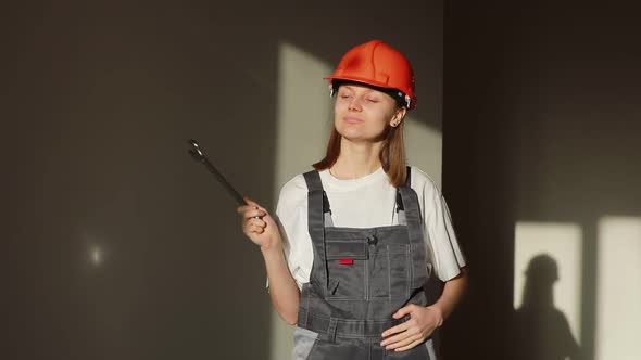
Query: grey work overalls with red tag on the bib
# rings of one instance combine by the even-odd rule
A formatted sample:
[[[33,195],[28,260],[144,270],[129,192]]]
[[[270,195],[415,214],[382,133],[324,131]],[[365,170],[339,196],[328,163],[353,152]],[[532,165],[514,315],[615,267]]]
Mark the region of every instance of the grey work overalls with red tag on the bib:
[[[427,254],[410,172],[397,191],[399,224],[369,229],[334,227],[318,172],[304,178],[314,265],[301,290],[294,360],[435,360],[431,339],[400,352],[379,346],[385,330],[407,320],[392,313],[427,306]]]

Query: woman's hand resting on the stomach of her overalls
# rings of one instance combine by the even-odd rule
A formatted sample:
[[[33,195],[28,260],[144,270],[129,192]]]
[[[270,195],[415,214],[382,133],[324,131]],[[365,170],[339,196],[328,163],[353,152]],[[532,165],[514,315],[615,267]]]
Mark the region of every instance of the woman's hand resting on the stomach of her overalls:
[[[435,306],[411,304],[399,309],[392,317],[401,319],[407,314],[410,320],[382,332],[384,340],[380,346],[387,350],[410,350],[425,342],[443,323],[442,312]]]

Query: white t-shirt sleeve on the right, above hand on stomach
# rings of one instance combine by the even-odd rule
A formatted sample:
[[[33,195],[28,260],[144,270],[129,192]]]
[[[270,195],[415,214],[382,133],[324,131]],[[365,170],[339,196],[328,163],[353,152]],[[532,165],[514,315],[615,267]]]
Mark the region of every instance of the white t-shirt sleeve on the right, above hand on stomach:
[[[415,187],[416,183],[416,187]],[[424,234],[428,257],[437,277],[448,281],[461,273],[466,260],[456,239],[452,216],[445,198],[433,181],[417,168],[412,168],[412,188],[423,209]]]

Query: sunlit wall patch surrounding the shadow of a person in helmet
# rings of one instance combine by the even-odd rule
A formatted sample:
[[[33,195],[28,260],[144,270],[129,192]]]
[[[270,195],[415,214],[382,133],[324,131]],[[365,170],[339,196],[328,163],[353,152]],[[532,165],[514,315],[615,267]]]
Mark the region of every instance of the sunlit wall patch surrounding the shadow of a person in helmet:
[[[524,298],[524,291],[528,278],[532,278],[532,266],[537,266],[538,259],[549,259],[555,265],[557,279],[552,284],[552,305],[565,314],[580,344],[581,228],[575,223],[517,222],[514,239],[514,308],[520,308],[528,300]]]

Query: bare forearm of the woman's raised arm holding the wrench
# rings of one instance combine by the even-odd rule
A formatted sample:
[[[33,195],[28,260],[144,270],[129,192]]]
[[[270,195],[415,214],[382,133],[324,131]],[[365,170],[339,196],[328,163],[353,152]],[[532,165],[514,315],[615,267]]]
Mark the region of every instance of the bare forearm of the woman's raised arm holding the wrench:
[[[290,325],[297,323],[300,291],[293,280],[281,246],[262,249],[269,281],[269,297],[274,308]]]

